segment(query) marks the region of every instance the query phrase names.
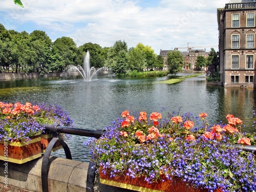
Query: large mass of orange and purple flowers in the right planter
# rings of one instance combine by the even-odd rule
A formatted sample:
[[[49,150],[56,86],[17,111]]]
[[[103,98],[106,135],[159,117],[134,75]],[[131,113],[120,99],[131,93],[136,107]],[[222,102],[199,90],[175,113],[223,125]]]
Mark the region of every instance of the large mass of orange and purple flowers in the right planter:
[[[242,133],[239,118],[227,115],[227,124],[209,126],[205,113],[199,118],[172,113],[162,119],[157,112],[135,118],[124,111],[121,116],[103,137],[86,143],[102,174],[143,177],[149,184],[181,179],[208,191],[256,190],[254,155],[233,145],[255,144],[254,133]]]

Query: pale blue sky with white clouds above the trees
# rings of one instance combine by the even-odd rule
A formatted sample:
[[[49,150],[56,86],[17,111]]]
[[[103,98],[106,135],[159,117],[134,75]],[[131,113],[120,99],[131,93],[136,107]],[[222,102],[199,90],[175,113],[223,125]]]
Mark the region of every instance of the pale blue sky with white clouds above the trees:
[[[71,37],[77,47],[92,42],[128,48],[141,42],[160,50],[191,48],[218,51],[217,8],[227,0],[0,0],[0,24],[7,30],[45,31],[55,41]],[[182,49],[184,48],[184,49]]]

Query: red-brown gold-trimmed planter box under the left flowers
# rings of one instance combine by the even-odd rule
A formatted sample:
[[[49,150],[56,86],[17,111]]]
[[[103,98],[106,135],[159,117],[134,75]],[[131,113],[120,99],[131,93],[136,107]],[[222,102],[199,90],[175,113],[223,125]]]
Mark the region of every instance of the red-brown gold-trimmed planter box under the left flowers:
[[[12,163],[26,163],[41,157],[41,137],[30,137],[27,142],[0,142],[0,160]]]

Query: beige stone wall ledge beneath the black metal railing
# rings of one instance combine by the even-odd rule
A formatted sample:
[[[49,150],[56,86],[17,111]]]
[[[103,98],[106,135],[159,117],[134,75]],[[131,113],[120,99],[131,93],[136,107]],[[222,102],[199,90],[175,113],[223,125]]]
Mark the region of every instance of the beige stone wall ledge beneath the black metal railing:
[[[89,163],[50,157],[51,165],[48,174],[49,192],[80,192],[86,191],[87,170]],[[42,157],[24,164],[0,161],[0,192],[41,192],[41,164]],[[8,171],[8,185],[6,187],[6,170]],[[132,192],[118,187],[99,183],[96,176],[94,191],[102,192]]]

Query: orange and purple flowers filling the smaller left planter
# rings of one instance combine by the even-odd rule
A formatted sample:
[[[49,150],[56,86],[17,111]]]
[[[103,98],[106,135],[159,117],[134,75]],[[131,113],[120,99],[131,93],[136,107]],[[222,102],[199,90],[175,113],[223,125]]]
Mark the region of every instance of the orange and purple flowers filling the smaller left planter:
[[[31,151],[31,148],[30,150],[25,149],[31,137],[40,136],[40,134],[44,133],[44,127],[39,126],[38,123],[73,126],[73,120],[69,117],[69,114],[58,105],[0,102],[0,142],[2,141],[2,143],[8,145],[9,158],[14,155],[11,153],[13,151],[12,146],[16,145],[13,145],[14,142],[20,143],[18,144],[20,146],[24,145],[20,153]],[[63,139],[68,137],[65,134],[61,136]],[[49,141],[49,138],[47,139]],[[41,148],[41,142],[42,146],[46,148],[46,142],[42,140],[39,142],[40,146],[34,146],[36,153],[38,152],[38,147]],[[42,150],[45,150],[45,148],[42,148]],[[15,153],[17,152],[15,151]],[[39,155],[41,155],[41,150],[36,157],[39,157]],[[19,157],[19,159],[24,159],[24,157]]]

